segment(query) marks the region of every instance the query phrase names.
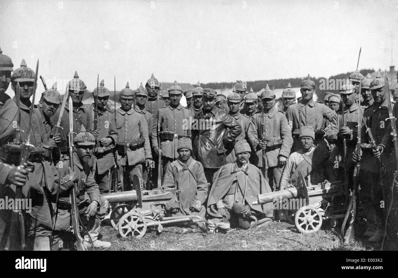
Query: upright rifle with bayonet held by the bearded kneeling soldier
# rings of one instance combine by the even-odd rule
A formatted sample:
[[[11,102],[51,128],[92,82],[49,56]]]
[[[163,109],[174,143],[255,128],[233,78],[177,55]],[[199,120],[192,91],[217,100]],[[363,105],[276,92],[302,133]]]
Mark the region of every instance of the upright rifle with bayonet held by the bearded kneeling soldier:
[[[69,98],[69,107],[72,110],[73,103],[72,103],[72,98]],[[68,140],[69,140],[69,167],[71,171],[73,172],[73,113],[70,111],[69,113],[69,133],[68,133]],[[76,133],[75,133],[76,134]],[[76,249],[77,251],[86,251],[86,248],[84,247],[83,244],[83,238],[80,235],[80,230],[79,229],[79,209],[77,208],[77,203],[76,203],[76,182],[74,183],[74,186],[72,188],[72,192],[70,192],[70,216],[72,217],[72,227],[71,231],[74,233],[76,237]]]

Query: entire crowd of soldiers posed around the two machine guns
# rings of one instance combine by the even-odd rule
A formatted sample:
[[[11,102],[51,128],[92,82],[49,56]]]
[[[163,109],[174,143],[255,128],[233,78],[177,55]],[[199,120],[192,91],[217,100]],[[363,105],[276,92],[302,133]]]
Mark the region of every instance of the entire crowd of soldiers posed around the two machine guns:
[[[92,92],[94,103],[82,104],[87,87],[77,72],[63,100],[53,86],[42,92],[36,106],[30,101],[35,71],[25,61],[19,69],[13,66],[0,50],[0,145],[7,147],[1,154],[0,198],[13,198],[22,188],[23,196],[32,199],[31,212],[23,212],[31,249],[61,246],[64,233],[70,231],[69,195],[75,183],[79,214],[88,230],[84,244],[89,246],[91,238],[94,247],[109,247],[109,242],[98,239],[107,214],[101,195],[109,192],[117,167],[123,172],[123,188],[119,180],[117,190],[130,190],[137,175],[142,188],[180,190],[178,206],[166,208],[171,215],[199,215],[249,229],[260,220],[282,217],[272,204],[253,205],[258,194],[297,186],[299,171],[310,184],[338,179],[352,184],[355,163],[361,161],[364,235],[369,241],[382,240],[386,212],[380,201],[385,200],[385,188],[378,161],[381,157],[387,173],[395,161],[390,100],[380,74],[372,80],[356,70],[339,94],[326,94],[325,103],[313,100],[316,84],[308,75],[300,84],[299,102],[290,83],[283,90],[281,111],[275,108],[275,93],[268,85],[256,94],[247,90],[246,82],[237,81],[227,96],[202,88],[199,82],[186,91],[174,82],[162,91],[152,74],[136,90],[127,82],[120,91],[120,108],[112,112],[107,109],[110,91],[103,80]],[[12,99],[5,94],[10,83],[16,93]],[[187,107],[180,104],[182,95]],[[394,106],[394,116],[397,109]],[[70,113],[76,133],[73,157],[68,143]],[[355,150],[358,114],[363,126],[361,153]],[[377,147],[366,133],[368,127]],[[33,145],[34,155],[21,166],[15,149],[26,142]],[[1,249],[18,245],[10,237],[11,217],[12,211],[0,210]]]

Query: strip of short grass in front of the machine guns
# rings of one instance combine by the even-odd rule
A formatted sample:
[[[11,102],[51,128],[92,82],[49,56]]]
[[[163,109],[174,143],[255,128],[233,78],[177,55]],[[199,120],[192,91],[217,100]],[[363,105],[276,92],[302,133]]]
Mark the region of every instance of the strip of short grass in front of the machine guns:
[[[361,232],[358,224],[357,231]],[[301,234],[292,224],[273,222],[251,230],[209,233],[203,229],[164,227],[162,233],[148,230],[144,237],[121,238],[112,227],[101,227],[102,240],[110,241],[108,250],[380,250],[381,243],[368,243],[356,238],[352,245],[344,245],[337,229],[321,229],[312,234]],[[384,250],[389,249],[388,241]],[[386,248],[387,247],[387,248]]]

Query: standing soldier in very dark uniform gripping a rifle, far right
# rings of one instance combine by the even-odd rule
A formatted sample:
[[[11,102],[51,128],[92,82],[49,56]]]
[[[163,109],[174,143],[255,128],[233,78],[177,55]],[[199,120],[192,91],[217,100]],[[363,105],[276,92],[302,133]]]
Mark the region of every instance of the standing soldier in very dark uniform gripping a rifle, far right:
[[[362,85],[369,84],[367,76],[362,80]],[[380,177],[380,164],[376,157],[381,155],[381,160],[384,166],[390,168],[391,161],[394,161],[392,152],[393,146],[391,144],[391,126],[388,113],[388,101],[385,90],[384,79],[381,78],[380,72],[376,74],[376,78],[371,80],[368,85],[373,97],[373,104],[365,109],[363,112],[364,121],[367,127],[371,129],[375,143],[378,145],[377,151],[373,150],[370,143],[369,135],[366,132],[366,127],[362,126],[362,145],[360,156],[357,150],[354,151],[353,160],[356,162],[361,160],[361,172],[359,175],[359,183],[361,190],[359,190],[359,198],[363,205],[363,211],[366,217],[366,229],[363,233],[364,237],[369,237],[369,241],[381,241],[384,236],[385,214],[384,209],[380,208],[380,201],[386,200],[383,198],[383,191],[385,188],[380,187],[380,178],[384,179],[384,184],[390,184],[390,180],[386,178],[390,176],[387,172],[385,176]],[[363,91],[362,91],[363,92]],[[365,98],[365,97],[364,97]],[[394,193],[395,194],[395,193]],[[388,207],[386,204],[385,207]]]

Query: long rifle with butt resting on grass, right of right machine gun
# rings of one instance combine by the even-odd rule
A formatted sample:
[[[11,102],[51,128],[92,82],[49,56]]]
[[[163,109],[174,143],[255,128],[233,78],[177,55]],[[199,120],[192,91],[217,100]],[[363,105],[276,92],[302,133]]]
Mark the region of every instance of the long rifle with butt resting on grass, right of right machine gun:
[[[359,92],[361,92],[361,83],[359,83]],[[358,121],[357,121],[357,152],[358,154],[361,153],[361,131],[362,131],[362,119],[361,119],[361,107],[359,106],[359,101],[360,101],[360,94],[358,95]],[[347,208],[347,212],[345,213],[343,225],[341,226],[341,233],[344,236],[344,228],[345,224],[347,223],[347,219],[349,215],[351,214],[351,220],[349,222],[349,227],[347,229],[347,232],[345,233],[344,236],[344,244],[351,244],[354,242],[354,236],[355,236],[355,231],[354,231],[354,223],[355,223],[355,217],[357,213],[357,196],[356,196],[356,190],[357,187],[359,186],[359,172],[361,170],[361,163],[358,160],[355,164],[354,168],[354,175],[353,175],[353,181],[354,181],[354,188],[351,192],[351,199]],[[346,177],[348,179],[348,177]]]

